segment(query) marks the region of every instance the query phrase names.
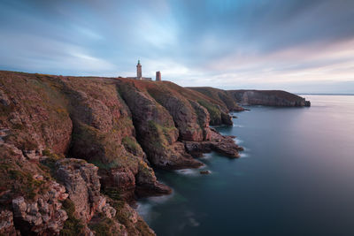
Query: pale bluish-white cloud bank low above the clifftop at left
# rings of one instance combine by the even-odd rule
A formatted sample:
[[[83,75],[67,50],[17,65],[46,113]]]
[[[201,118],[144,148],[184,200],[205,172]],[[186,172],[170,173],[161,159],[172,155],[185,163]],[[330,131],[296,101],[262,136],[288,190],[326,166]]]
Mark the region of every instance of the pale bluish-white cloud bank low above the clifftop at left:
[[[23,42],[22,39],[26,39]],[[32,34],[2,34],[0,44],[15,43],[16,49],[0,49],[1,66],[17,71],[50,72],[59,74],[94,75],[114,72],[115,65],[75,44],[59,42]],[[35,49],[35,50],[34,50]],[[16,65],[16,67],[14,66]]]

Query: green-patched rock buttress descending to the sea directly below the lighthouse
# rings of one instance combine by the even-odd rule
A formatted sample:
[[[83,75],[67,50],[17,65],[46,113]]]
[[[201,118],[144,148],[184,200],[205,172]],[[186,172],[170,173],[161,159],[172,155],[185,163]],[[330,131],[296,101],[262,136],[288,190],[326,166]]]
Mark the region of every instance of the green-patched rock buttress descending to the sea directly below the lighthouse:
[[[129,106],[137,138],[151,164],[163,169],[198,167],[202,164],[186,153],[167,110],[133,84],[122,83],[119,90]]]

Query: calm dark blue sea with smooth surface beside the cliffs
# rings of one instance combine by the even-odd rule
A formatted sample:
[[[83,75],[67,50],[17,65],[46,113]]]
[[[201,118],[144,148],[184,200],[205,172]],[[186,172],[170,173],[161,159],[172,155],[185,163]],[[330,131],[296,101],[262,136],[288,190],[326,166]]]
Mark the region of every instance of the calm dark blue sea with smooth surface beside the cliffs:
[[[251,107],[234,127],[245,151],[199,170],[160,171],[174,194],[142,200],[158,235],[354,235],[354,96],[305,95],[311,108]]]

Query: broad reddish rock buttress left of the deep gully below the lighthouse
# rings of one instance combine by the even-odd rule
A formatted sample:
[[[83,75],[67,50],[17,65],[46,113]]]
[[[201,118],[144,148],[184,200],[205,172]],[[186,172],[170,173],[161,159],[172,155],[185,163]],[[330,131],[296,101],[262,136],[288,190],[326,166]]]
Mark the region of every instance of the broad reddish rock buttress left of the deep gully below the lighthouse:
[[[139,185],[135,176],[139,171],[145,171],[139,164],[146,162],[147,158],[135,140],[131,112],[118,94],[116,85],[102,80],[101,83],[95,81],[95,88],[92,88],[82,85],[78,78],[67,78],[62,82],[71,101],[73,140],[70,154],[99,167],[104,189],[117,189],[120,197],[129,201],[134,199],[135,187]],[[147,172],[154,182],[145,188],[162,186],[153,171]],[[161,192],[153,188],[150,194]]]

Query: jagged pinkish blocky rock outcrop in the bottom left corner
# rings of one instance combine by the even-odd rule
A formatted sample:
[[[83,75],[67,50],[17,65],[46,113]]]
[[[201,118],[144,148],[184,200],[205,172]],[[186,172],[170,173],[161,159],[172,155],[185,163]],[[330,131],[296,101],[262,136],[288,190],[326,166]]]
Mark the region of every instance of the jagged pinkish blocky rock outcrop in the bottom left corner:
[[[42,166],[24,156],[13,144],[1,142],[0,153],[0,208],[12,212],[16,232],[58,235],[67,219],[61,204],[67,197],[65,187],[50,179]],[[5,223],[1,231],[13,232],[11,218],[1,222],[0,225]]]

